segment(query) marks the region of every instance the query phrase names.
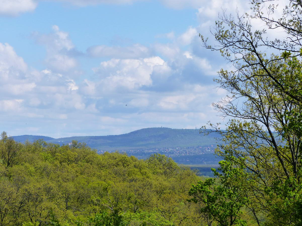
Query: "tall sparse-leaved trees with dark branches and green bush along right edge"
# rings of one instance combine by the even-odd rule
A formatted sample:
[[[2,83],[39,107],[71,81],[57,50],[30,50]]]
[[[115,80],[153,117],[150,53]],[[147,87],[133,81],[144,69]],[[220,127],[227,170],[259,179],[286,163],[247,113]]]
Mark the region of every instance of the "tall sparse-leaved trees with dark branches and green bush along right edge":
[[[219,71],[216,82],[227,96],[213,104],[221,116],[231,118],[226,130],[211,123],[203,128],[217,132],[224,141],[216,150],[224,159],[222,174],[217,174],[220,180],[217,184],[207,180],[190,190],[191,200],[204,203],[207,208],[201,211],[219,225],[249,224],[231,221],[240,217],[240,211],[254,218],[251,224],[302,222],[302,14],[300,2],[289,1],[281,17],[274,19],[278,3],[282,2],[252,0],[251,15],[238,12],[232,17],[223,12],[212,30],[216,43],[209,45],[201,36],[206,48],[219,50],[233,66]],[[285,38],[269,40],[266,30],[253,27],[256,20],[267,30],[282,31]],[[231,168],[225,168],[226,162]],[[234,171],[245,179],[225,180]],[[221,216],[214,207],[230,214]]]

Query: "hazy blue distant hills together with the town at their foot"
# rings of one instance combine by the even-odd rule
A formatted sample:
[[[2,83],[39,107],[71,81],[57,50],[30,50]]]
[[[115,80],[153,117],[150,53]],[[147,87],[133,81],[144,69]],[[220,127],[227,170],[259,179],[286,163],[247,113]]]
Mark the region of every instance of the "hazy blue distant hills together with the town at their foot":
[[[43,136],[16,136],[16,141],[44,139],[50,143],[60,145],[69,144],[72,140],[86,143],[89,147],[97,149],[98,153],[106,151],[126,152],[138,159],[146,159],[154,153],[161,153],[171,157],[181,164],[217,164],[220,158],[213,155],[217,145],[215,137],[210,133],[207,136],[199,133],[198,129],[171,129],[171,128],[145,128],[130,133],[109,136],[83,136],[63,137],[54,139]]]

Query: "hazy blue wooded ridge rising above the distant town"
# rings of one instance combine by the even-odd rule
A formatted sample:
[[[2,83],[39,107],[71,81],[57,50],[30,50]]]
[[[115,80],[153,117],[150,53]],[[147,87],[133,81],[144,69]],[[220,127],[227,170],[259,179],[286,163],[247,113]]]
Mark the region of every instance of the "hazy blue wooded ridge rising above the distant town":
[[[15,136],[14,140],[24,142],[44,139],[47,142],[68,144],[72,140],[87,143],[91,148],[104,151],[155,149],[174,147],[196,147],[215,145],[217,134],[204,136],[198,129],[145,128],[121,135],[64,137],[54,139],[43,136]]]

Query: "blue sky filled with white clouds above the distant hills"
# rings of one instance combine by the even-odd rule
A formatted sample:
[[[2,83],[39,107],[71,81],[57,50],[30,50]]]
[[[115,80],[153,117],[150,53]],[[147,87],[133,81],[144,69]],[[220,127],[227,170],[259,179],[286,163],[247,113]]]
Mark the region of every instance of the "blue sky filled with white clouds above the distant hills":
[[[54,138],[222,122],[204,49],[239,0],[0,0],[0,130]]]

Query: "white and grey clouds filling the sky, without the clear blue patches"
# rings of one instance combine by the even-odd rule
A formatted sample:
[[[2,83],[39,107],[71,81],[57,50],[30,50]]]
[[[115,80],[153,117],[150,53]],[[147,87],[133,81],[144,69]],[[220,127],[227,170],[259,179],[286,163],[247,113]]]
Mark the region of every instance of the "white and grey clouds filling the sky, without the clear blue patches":
[[[138,0],[139,1],[139,0]],[[120,1],[68,1],[84,7],[132,4]],[[224,62],[201,47],[199,32],[208,33],[220,7],[246,8],[234,1],[169,1],[169,8],[196,8],[198,26],[182,33],[167,30],[165,42],[123,45],[87,43],[80,52],[68,30],[57,25],[31,38],[45,49],[42,69],[29,65],[9,43],[0,43],[0,114],[11,135],[51,137],[108,135],[143,127],[195,128],[219,121],[212,102],[225,96],[213,78]],[[11,0],[1,15],[33,11],[38,1]],[[91,62],[90,62],[91,61]],[[82,64],[89,62],[89,70]],[[8,128],[8,129],[6,129]],[[9,129],[14,128],[14,129]]]

